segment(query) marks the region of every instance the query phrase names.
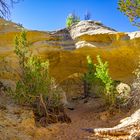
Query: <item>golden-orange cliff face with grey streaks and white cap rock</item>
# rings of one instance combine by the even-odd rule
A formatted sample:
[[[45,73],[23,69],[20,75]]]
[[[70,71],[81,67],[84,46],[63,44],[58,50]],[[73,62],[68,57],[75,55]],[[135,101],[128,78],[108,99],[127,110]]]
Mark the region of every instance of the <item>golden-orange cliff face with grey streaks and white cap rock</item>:
[[[0,79],[9,84],[17,79],[14,73],[18,71],[18,60],[13,53],[13,40],[22,28],[3,19],[0,22]],[[87,55],[91,55],[94,63],[97,55],[108,61],[113,79],[131,82],[140,55],[139,34],[117,32],[96,21],[81,21],[70,29],[54,32],[27,30],[31,50],[49,59],[50,73],[60,83],[86,72]]]

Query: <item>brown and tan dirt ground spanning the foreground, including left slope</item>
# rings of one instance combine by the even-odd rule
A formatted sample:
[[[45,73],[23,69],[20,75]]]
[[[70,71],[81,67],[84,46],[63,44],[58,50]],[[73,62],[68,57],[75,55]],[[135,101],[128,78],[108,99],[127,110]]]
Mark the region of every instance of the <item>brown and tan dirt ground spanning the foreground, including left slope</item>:
[[[75,102],[75,110],[66,110],[70,124],[53,124],[48,128],[35,127],[30,109],[18,106],[0,96],[0,140],[88,140],[90,135],[82,128],[112,127],[129,113],[110,112],[101,99]],[[95,138],[97,140],[97,138]]]

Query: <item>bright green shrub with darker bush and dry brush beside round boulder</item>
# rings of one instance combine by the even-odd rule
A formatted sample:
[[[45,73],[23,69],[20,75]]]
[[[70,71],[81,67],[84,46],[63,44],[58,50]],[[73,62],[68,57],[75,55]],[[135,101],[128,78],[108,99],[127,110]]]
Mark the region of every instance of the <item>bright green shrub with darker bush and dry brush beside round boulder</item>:
[[[126,104],[130,93],[123,93],[123,95],[117,91],[121,81],[115,81],[110,77],[107,61],[103,62],[99,55],[96,58],[97,64],[94,64],[92,58],[87,56],[88,70],[83,76],[85,96],[101,97],[110,107]]]

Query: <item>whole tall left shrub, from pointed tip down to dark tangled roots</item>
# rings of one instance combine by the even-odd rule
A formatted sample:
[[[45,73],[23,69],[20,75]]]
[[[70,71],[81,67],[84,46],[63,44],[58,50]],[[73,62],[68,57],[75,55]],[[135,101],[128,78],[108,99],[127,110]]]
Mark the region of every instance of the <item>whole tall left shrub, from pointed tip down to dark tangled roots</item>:
[[[35,120],[42,126],[58,121],[70,122],[61,103],[62,91],[49,74],[49,62],[32,55],[25,31],[15,38],[14,52],[20,66],[20,79],[15,92],[12,92],[16,101],[30,105]]]

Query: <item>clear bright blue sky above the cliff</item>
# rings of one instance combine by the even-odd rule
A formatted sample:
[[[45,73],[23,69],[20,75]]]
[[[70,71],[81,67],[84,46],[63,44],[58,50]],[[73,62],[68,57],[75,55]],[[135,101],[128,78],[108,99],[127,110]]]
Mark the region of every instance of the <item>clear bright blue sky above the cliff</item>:
[[[23,0],[11,10],[11,20],[33,30],[65,27],[66,17],[75,12],[81,17],[88,10],[91,19],[118,31],[136,31],[128,18],[117,10],[118,0]]]

